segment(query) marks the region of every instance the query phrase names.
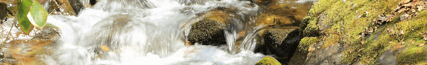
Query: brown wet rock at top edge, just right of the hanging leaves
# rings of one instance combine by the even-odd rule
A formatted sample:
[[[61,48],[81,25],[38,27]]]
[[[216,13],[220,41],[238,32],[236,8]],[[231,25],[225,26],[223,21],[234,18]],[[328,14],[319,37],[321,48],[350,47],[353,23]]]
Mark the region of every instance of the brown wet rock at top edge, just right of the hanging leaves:
[[[68,0],[47,0],[42,6],[51,15],[76,15]]]

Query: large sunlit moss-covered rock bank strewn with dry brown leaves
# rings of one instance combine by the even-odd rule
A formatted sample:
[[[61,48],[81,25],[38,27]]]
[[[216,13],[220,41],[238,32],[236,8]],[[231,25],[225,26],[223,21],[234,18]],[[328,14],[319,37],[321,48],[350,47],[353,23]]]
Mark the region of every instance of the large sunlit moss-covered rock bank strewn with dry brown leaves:
[[[308,52],[311,45],[316,45],[313,51],[308,52],[304,64],[381,65],[377,61],[383,60],[378,58],[385,51],[395,52],[391,56],[397,57],[392,61],[397,65],[425,64],[426,53],[421,49],[425,46],[418,47],[417,44],[426,42],[421,36],[427,33],[427,11],[416,11],[418,16],[401,21],[400,16],[404,13],[393,13],[397,12],[394,9],[399,3],[406,1],[415,3],[423,0],[320,0],[300,25],[304,39],[300,42],[299,51]],[[376,23],[382,17],[379,15],[397,17],[390,22]],[[319,41],[313,43],[315,38]],[[319,51],[328,49],[330,45],[345,48],[336,51],[340,52],[336,54],[342,60],[313,60],[320,54],[326,54]]]

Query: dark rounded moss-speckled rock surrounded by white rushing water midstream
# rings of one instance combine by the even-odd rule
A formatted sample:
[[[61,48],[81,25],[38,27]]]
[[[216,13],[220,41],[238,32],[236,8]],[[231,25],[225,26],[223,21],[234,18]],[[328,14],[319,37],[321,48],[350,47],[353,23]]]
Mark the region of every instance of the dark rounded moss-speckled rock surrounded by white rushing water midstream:
[[[188,40],[202,45],[222,45],[226,44],[224,36],[224,24],[216,20],[200,20],[191,25]]]

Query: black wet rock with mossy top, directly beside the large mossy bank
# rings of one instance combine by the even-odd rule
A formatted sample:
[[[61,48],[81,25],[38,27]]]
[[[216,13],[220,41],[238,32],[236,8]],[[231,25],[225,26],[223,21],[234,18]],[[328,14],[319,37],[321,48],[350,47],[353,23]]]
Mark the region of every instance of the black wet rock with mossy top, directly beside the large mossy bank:
[[[270,28],[264,32],[263,38],[264,44],[257,46],[255,52],[275,54],[282,64],[289,62],[301,41],[298,29]]]

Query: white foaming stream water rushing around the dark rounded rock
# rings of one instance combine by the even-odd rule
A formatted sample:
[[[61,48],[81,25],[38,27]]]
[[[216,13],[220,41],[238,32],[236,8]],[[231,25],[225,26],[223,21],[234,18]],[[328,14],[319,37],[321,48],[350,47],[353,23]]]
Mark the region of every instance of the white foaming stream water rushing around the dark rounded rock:
[[[193,2],[194,1],[194,2]],[[59,27],[48,65],[253,65],[266,55],[254,53],[259,7],[240,0],[100,0],[76,16],[50,15]],[[212,7],[237,8],[226,27],[227,45],[185,46],[191,24]],[[248,29],[249,28],[249,29]],[[236,47],[239,31],[246,37]],[[100,49],[105,45],[110,51]],[[240,49],[233,51],[232,49]]]

